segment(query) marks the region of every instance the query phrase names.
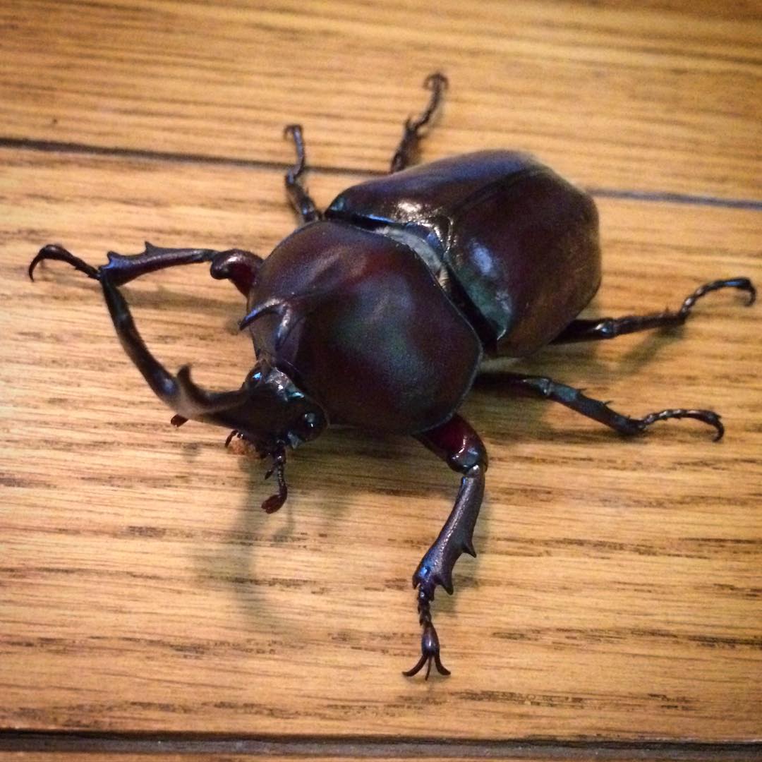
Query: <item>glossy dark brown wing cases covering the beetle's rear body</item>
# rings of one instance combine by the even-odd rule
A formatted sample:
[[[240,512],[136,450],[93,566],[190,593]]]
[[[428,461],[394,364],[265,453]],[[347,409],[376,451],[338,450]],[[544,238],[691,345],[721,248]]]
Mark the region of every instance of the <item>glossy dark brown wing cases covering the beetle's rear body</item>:
[[[349,188],[328,216],[399,226],[439,252],[457,284],[451,295],[491,354],[520,357],[547,344],[600,283],[593,200],[526,154],[481,151],[411,167]]]

